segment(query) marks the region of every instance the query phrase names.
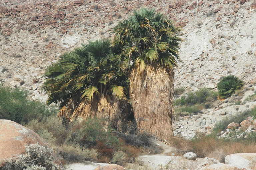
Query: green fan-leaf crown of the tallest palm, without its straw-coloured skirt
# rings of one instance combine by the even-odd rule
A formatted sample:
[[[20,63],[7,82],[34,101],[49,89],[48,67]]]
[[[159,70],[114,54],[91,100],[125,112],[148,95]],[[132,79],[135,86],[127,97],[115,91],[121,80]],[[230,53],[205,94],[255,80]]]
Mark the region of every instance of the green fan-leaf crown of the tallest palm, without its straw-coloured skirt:
[[[113,44],[123,48],[121,58],[126,66],[140,72],[146,65],[157,64],[166,69],[177,66],[181,39],[180,29],[154,10],[142,8],[112,29]]]

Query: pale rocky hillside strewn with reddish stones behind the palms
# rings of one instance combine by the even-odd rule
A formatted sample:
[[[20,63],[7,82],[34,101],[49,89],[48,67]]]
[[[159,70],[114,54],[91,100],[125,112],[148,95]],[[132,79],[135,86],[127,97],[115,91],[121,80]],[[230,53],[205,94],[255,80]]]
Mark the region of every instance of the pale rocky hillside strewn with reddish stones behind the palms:
[[[0,0],[0,82],[27,88],[32,98],[45,101],[39,87],[47,63],[88,40],[111,37],[110,28],[142,6],[164,13],[183,29],[175,87],[214,89],[229,74],[246,86],[255,81],[255,0]],[[190,122],[195,128],[212,126],[220,114],[212,113],[215,109]],[[186,118],[175,125],[177,134],[191,127]]]

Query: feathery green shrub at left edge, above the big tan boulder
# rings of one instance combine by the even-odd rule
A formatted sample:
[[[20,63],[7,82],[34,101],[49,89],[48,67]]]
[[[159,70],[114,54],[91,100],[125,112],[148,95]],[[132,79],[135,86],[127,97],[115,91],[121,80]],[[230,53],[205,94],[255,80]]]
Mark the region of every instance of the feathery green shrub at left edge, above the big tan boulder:
[[[56,112],[56,109],[49,109],[39,101],[29,100],[28,92],[25,90],[0,86],[0,119],[26,123],[32,119],[40,120]]]

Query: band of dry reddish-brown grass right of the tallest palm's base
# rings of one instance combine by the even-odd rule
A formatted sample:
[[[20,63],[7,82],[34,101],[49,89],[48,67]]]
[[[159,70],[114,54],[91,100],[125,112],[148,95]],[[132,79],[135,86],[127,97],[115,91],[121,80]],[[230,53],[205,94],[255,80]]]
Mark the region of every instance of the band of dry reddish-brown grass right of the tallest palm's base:
[[[199,135],[187,140],[179,137],[169,139],[170,143],[179,149],[179,153],[194,152],[199,157],[210,157],[224,162],[226,155],[234,153],[256,153],[255,140],[227,140],[218,139],[214,135]]]

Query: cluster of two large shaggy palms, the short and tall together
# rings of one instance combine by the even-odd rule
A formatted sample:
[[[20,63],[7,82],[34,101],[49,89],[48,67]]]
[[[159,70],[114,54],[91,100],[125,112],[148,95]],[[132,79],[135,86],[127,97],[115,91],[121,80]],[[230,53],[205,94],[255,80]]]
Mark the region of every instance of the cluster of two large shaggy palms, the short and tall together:
[[[139,130],[172,135],[179,31],[154,10],[134,11],[112,29],[112,40],[89,41],[46,67],[47,104],[58,103],[69,120],[134,113]]]

